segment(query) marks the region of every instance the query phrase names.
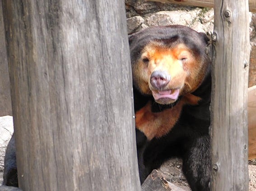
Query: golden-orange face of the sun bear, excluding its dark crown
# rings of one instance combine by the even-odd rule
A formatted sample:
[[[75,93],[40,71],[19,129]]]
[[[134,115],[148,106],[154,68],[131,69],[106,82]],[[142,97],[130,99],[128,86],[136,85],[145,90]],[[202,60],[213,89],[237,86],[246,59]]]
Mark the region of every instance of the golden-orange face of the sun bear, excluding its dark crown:
[[[150,79],[154,71],[158,72],[160,81],[168,76],[164,86],[152,84]],[[133,80],[141,93],[153,95],[160,104],[170,104],[178,96],[193,92],[202,81],[203,72],[200,57],[185,44],[168,47],[160,42],[152,42],[144,47],[133,65]]]

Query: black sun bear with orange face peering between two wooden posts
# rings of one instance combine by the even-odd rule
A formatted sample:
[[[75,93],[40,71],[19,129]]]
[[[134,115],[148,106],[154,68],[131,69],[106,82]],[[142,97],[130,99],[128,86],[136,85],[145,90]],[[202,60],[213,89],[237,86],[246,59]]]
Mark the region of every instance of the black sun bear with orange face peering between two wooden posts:
[[[208,41],[204,33],[179,25],[129,36],[141,183],[164,161],[181,157],[192,191],[209,191]]]

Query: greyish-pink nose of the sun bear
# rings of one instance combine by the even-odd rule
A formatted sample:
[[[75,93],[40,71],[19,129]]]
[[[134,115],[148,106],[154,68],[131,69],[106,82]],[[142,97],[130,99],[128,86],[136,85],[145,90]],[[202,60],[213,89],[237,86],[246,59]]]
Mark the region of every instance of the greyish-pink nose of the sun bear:
[[[164,71],[154,71],[150,76],[150,84],[156,89],[164,88],[170,80],[171,76]]]

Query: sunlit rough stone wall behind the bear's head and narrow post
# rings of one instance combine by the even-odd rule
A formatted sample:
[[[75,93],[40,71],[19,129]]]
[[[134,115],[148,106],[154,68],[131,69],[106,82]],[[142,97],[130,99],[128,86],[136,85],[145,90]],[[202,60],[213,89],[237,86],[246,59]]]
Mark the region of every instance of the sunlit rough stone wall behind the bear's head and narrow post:
[[[214,10],[147,0],[126,0],[128,33],[156,25],[186,25],[199,32],[213,32]],[[249,87],[256,85],[256,14],[250,13],[251,59]]]

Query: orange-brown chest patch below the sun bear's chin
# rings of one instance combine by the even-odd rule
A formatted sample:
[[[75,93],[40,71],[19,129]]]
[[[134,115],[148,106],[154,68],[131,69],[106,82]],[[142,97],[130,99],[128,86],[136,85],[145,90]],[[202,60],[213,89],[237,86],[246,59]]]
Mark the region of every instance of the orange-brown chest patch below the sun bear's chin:
[[[149,101],[135,113],[136,128],[143,132],[148,140],[162,137],[177,123],[184,105],[197,105],[199,101],[199,97],[188,93],[174,107],[161,112],[152,112]]]

